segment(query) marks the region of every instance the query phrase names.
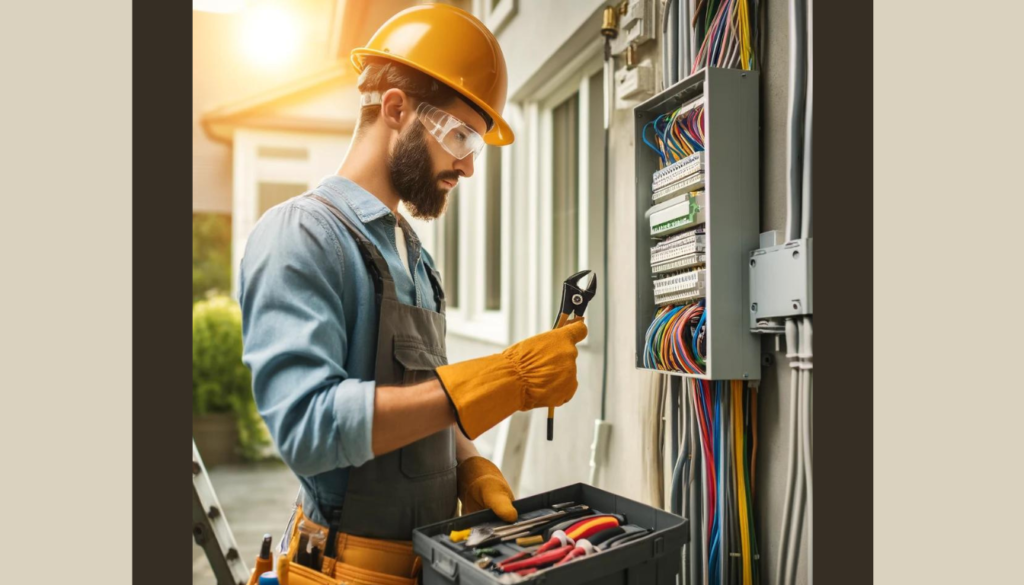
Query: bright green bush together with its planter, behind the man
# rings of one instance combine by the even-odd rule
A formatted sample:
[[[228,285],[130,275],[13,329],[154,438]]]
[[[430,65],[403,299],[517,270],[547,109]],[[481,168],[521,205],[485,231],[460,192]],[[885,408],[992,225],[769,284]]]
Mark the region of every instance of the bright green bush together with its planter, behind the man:
[[[242,311],[226,296],[193,305],[193,436],[208,466],[258,459],[269,445],[242,363]]]

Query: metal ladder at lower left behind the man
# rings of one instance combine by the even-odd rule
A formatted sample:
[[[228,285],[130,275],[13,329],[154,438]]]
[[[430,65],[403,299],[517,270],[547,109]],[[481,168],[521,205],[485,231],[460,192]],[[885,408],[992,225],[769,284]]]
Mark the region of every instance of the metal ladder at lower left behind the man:
[[[217,585],[246,585],[249,569],[239,554],[234,535],[227,525],[210,475],[193,438],[193,538],[206,551]]]

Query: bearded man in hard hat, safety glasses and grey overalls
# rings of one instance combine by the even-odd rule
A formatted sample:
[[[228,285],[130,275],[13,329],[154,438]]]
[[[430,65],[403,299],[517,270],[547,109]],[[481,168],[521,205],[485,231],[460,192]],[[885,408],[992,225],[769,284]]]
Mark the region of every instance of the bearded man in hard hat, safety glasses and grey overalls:
[[[423,5],[385,23],[352,64],[361,113],[337,175],[267,211],[250,236],[244,360],[302,485],[288,556],[299,533],[321,542],[333,528],[336,558],[309,562],[316,571],[414,583],[413,529],[455,516],[457,499],[516,519],[511,489],[471,440],[567,402],[587,329],[577,321],[447,365],[440,279],[398,205],[437,217],[484,143],[512,142],[504,56],[471,14]],[[296,582],[308,570],[290,560]]]

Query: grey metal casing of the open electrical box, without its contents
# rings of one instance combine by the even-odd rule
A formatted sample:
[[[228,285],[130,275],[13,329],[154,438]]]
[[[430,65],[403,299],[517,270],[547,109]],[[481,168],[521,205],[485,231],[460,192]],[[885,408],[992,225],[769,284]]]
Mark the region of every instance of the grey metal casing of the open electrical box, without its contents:
[[[702,98],[707,165],[707,374],[666,372],[705,380],[761,378],[761,344],[750,331],[748,260],[759,246],[758,72],[706,69],[634,109],[636,144],[636,366],[643,365],[654,318],[650,270],[651,176],[657,156],[644,145],[644,126],[662,114]],[[657,370],[663,371],[663,370]]]

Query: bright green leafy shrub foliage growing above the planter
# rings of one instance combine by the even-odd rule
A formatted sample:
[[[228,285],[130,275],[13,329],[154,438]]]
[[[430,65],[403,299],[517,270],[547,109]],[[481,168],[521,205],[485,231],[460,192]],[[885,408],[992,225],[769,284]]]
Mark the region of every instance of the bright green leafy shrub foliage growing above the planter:
[[[193,305],[193,413],[234,414],[246,459],[259,458],[270,443],[242,363],[242,309],[226,296]]]

